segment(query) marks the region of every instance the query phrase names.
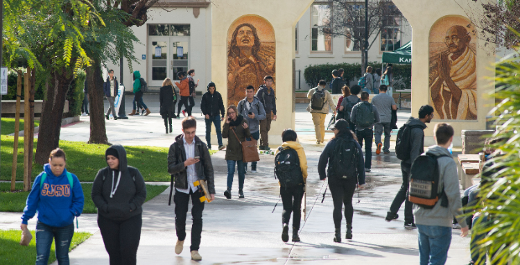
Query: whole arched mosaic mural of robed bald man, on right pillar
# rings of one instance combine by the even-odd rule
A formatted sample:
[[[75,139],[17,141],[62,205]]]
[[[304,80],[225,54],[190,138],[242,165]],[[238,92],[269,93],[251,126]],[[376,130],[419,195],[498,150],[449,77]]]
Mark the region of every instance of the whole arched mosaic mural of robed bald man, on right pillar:
[[[477,119],[477,37],[464,17],[443,17],[429,39],[429,102],[433,119]]]

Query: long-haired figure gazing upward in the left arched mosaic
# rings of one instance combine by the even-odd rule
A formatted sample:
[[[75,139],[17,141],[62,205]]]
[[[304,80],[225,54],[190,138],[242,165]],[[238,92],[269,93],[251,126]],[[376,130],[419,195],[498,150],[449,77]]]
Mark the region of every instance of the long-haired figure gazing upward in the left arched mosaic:
[[[243,99],[248,85],[258,89],[264,76],[274,75],[274,46],[262,45],[252,24],[237,26],[227,53],[227,105],[236,105]]]

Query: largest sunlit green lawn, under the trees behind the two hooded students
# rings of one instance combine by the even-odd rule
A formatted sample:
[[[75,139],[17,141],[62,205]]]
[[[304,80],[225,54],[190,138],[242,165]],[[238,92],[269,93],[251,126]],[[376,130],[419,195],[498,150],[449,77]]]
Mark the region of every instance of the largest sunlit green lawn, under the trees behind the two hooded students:
[[[34,153],[36,153],[34,143]],[[1,135],[0,180],[11,180],[12,147],[14,137]],[[60,141],[60,148],[67,153],[67,171],[76,174],[80,181],[94,181],[99,169],[107,166],[105,151],[109,146],[104,144],[86,144],[84,142]],[[170,181],[168,174],[168,148],[154,146],[125,146],[128,165],[135,166],[145,181]],[[17,180],[24,176],[24,139],[18,142]],[[211,150],[210,154],[216,153]],[[43,171],[43,166],[33,164],[33,180]]]

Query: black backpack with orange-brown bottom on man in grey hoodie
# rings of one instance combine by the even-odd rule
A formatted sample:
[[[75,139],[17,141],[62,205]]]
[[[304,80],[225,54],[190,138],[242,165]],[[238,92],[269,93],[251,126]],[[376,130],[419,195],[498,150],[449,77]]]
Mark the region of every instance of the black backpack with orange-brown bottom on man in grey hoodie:
[[[410,169],[410,184],[408,187],[408,200],[411,203],[431,209],[435,207],[437,201],[446,197],[444,187],[439,192],[439,157],[449,157],[449,155],[419,155]],[[448,207],[448,200],[444,198],[441,202],[442,207]]]

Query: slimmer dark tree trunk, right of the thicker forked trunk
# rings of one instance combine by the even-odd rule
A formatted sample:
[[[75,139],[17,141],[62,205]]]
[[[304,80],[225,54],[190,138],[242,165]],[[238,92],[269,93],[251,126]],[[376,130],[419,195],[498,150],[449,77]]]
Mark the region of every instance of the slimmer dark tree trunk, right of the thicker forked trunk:
[[[103,77],[101,65],[96,60],[92,67],[87,67],[87,85],[90,103],[90,139],[89,144],[108,144],[105,128],[105,107],[103,105]]]

